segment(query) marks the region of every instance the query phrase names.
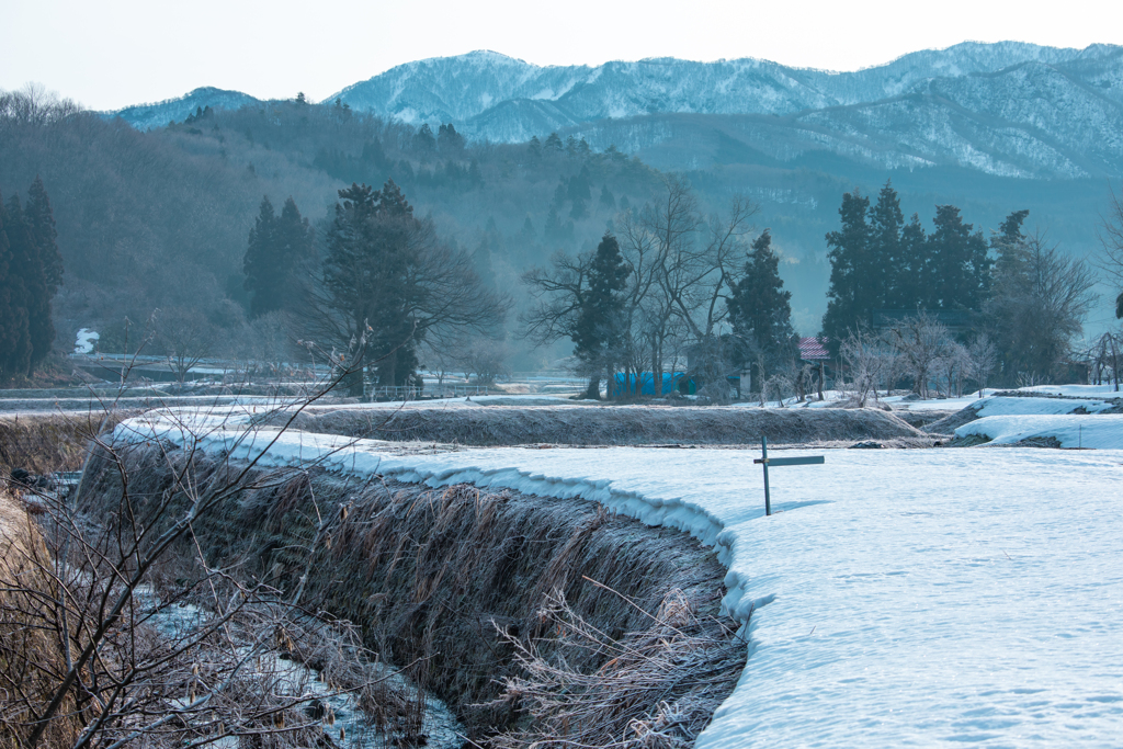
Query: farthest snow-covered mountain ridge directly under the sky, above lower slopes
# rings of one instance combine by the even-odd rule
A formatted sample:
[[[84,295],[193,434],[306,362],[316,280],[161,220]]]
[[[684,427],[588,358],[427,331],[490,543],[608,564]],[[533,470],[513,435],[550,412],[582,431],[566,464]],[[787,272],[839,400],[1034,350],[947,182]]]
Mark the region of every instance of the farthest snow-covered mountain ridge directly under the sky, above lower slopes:
[[[407,122],[480,118],[480,135],[487,136],[483,124],[503,119],[489,113],[509,101],[553,104],[550,111],[569,125],[669,112],[785,115],[895,97],[935,77],[993,72],[1025,62],[1061,64],[1108,49],[1114,48],[965,43],[852,73],[786,67],[754,58],[699,63],[666,57],[596,67],[540,67],[494,52],[473,52],[399,65],[330,99],[339,97],[353,109]],[[510,108],[501,111],[511,112]]]

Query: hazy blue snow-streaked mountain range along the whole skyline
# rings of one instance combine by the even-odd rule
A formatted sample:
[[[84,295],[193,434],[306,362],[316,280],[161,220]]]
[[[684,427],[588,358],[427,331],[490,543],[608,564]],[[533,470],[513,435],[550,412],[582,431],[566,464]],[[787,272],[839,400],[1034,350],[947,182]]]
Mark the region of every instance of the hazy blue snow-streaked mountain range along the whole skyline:
[[[1123,174],[1123,47],[965,43],[850,73],[745,58],[532,65],[473,52],[399,65],[332,94],[413,125],[453,122],[512,143],[551,131],[617,145],[665,168],[797,167],[834,155],[873,168],[995,176]],[[197,89],[112,112],[148,129],[198,107],[262,104]]]

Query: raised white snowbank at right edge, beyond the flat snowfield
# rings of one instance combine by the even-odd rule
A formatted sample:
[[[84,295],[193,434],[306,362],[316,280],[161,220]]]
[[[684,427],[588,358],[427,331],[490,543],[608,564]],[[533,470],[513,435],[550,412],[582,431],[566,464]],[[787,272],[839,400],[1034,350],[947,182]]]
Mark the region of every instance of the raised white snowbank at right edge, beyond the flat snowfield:
[[[1044,399],[1008,399],[1012,401]],[[1079,403],[1080,401],[1056,401]],[[1092,401],[1086,401],[1090,403]],[[986,437],[990,445],[1016,445],[1028,439],[1053,438],[1061,447],[1123,449],[1123,414],[988,415],[964,424],[956,437]]]

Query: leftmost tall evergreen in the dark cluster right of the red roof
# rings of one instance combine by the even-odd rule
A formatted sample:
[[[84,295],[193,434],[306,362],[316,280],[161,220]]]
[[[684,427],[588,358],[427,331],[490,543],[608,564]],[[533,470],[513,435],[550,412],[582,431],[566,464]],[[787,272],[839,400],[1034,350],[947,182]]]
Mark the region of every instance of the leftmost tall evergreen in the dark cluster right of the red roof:
[[[839,216],[842,227],[827,235],[830,247],[831,282],[823,314],[823,336],[836,354],[850,330],[866,325],[873,301],[869,294],[870,228],[866,221],[869,199],[857,190],[842,195]]]

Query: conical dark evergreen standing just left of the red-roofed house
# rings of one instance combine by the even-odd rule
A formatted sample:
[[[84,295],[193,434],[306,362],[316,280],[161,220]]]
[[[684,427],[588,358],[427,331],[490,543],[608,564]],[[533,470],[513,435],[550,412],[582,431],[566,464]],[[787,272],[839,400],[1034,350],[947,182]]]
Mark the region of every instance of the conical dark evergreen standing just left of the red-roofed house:
[[[755,363],[763,355],[769,368],[789,357],[792,328],[792,292],[784,291],[779,277],[779,257],[772,249],[768,229],[752,243],[741,277],[727,300],[733,335],[740,342],[742,364]],[[757,372],[763,378],[766,372]],[[758,380],[763,382],[763,380]]]

